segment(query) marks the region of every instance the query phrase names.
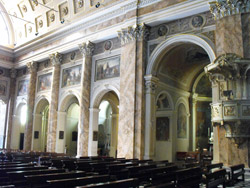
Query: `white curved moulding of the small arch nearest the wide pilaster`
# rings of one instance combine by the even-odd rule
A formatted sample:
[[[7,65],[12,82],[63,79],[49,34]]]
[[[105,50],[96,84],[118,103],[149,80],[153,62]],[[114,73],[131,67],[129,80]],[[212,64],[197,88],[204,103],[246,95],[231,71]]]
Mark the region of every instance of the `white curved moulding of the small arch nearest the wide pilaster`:
[[[103,96],[110,91],[113,91],[120,100],[120,92],[115,86],[109,84],[101,85],[100,87],[97,88],[96,91],[94,91],[92,100],[90,102],[90,108],[98,108]]]

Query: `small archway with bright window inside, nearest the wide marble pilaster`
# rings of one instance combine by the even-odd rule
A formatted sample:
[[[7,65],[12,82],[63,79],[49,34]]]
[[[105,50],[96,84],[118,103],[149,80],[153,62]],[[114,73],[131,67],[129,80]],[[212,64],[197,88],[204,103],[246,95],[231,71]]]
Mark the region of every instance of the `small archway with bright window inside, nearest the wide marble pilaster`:
[[[119,98],[116,91],[103,88],[90,108],[89,155],[117,156]]]

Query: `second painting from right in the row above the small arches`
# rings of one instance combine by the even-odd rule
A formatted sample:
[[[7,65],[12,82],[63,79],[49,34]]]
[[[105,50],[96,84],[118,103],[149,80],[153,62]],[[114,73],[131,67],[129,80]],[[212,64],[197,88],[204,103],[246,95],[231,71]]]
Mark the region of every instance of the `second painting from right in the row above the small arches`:
[[[72,85],[78,85],[81,83],[82,66],[77,65],[67,69],[63,69],[62,72],[62,88]]]

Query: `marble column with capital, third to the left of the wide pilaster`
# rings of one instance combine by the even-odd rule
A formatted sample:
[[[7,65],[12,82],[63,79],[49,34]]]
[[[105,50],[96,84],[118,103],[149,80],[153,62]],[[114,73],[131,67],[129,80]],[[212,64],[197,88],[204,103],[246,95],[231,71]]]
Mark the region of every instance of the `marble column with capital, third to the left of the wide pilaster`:
[[[36,93],[36,79],[37,79],[37,63],[32,61],[27,63],[28,71],[30,73],[28,100],[27,100],[27,123],[24,132],[24,150],[31,150],[32,143],[32,128],[33,128],[33,111]]]

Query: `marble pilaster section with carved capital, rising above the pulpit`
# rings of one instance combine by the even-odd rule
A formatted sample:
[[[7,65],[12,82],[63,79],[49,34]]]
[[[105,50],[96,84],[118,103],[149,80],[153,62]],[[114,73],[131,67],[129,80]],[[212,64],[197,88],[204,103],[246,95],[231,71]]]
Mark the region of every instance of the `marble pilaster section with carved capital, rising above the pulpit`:
[[[217,56],[235,53],[241,57],[249,58],[250,1],[217,0],[210,3],[210,11],[216,19]]]

